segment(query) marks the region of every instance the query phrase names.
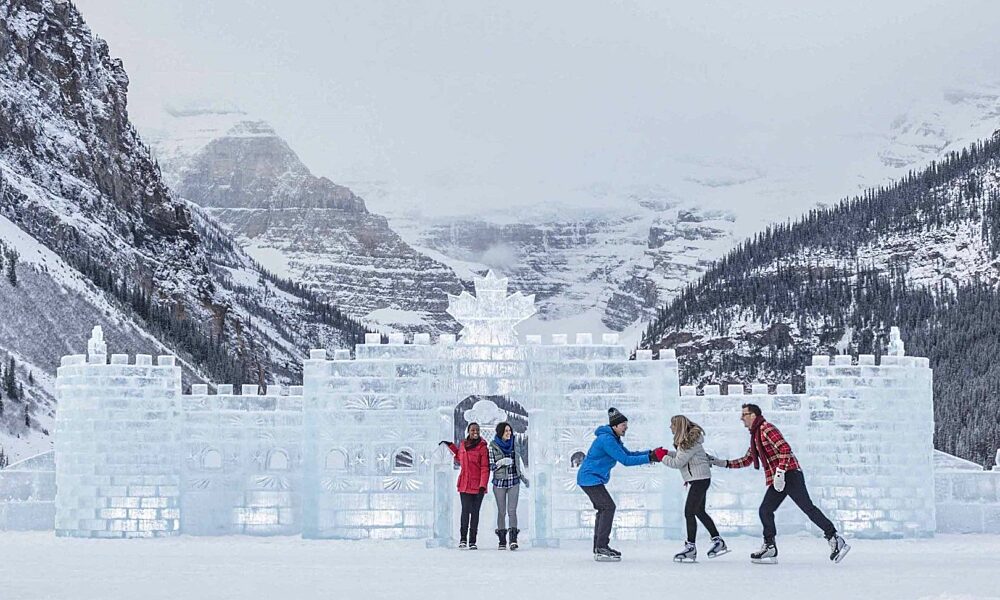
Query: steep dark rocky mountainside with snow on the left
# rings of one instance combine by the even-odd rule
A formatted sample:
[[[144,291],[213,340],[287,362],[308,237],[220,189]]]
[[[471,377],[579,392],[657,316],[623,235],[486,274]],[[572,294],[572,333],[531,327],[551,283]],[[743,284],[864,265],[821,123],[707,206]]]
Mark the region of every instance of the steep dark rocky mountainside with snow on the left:
[[[0,3],[0,357],[11,460],[48,444],[59,357],[177,353],[187,380],[297,378],[310,345],[364,333],[193,218],[129,121],[128,76],[66,0]],[[197,216],[197,215],[196,215]],[[200,234],[199,231],[202,233]]]

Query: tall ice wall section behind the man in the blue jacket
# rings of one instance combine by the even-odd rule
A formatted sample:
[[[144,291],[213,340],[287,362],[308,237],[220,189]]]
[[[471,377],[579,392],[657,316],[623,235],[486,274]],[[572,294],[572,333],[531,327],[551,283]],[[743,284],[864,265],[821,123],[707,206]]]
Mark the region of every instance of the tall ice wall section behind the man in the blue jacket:
[[[536,521],[548,527],[543,539],[590,539],[594,510],[576,484],[580,462],[594,441],[594,430],[608,423],[608,408],[618,408],[629,419],[624,442],[630,450],[665,446],[670,416],[677,408],[678,373],[673,351],[652,360],[639,350],[629,360],[617,335],[595,340],[579,334],[570,344],[554,335],[542,344],[528,338],[530,404],[538,410],[540,452],[534,461]],[[618,506],[612,535],[619,540],[664,539],[679,532],[680,510],[676,472],[661,465],[618,466],[608,489]]]

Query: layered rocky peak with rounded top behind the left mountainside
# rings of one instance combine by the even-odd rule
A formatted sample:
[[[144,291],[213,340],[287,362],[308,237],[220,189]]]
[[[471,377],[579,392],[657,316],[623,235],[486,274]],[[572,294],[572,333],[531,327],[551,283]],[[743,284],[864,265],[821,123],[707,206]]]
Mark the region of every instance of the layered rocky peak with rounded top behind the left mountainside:
[[[168,109],[148,138],[171,188],[268,269],[388,330],[454,332],[454,271],[415,251],[346,187],[314,176],[237,109]]]

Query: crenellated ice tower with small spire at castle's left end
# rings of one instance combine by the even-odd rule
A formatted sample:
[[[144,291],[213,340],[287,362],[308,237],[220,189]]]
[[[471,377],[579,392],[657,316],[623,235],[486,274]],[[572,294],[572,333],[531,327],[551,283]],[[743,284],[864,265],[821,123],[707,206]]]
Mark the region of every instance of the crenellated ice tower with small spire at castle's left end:
[[[181,370],[173,356],[110,364],[100,327],[86,355],[63,357],[56,380],[56,534],[174,535]]]

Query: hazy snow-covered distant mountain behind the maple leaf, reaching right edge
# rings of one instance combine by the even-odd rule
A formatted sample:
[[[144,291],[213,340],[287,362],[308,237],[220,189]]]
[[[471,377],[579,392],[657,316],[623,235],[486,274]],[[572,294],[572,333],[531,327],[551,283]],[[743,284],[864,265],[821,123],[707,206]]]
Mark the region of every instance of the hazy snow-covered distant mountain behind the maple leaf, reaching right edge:
[[[768,224],[887,185],[997,127],[1000,85],[981,84],[930,98],[882,130],[826,138],[813,156],[678,156],[655,185],[348,185],[459,274],[493,268],[537,294],[539,314],[523,332],[637,340],[658,306]]]

